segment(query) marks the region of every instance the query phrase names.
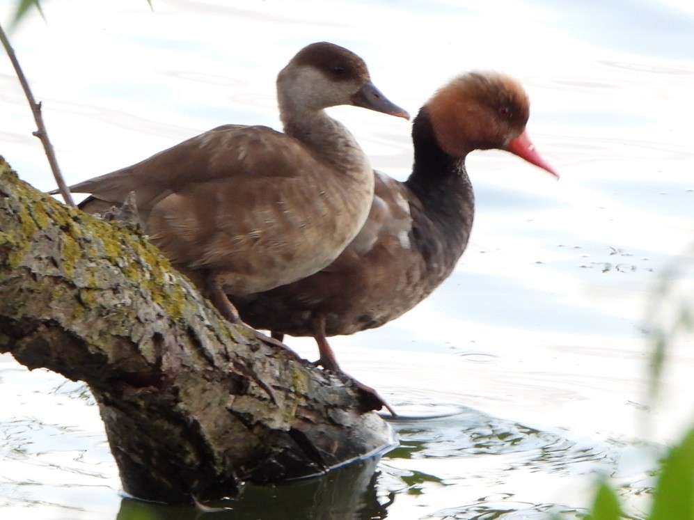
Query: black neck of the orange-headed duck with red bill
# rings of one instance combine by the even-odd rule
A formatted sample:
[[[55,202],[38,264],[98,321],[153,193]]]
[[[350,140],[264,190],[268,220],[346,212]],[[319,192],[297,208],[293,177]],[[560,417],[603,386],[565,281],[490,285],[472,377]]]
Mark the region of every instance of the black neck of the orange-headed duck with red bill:
[[[426,107],[412,125],[414,164],[407,187],[421,201],[440,239],[449,244],[455,260],[467,244],[474,216],[473,189],[464,157],[452,157],[441,149]]]

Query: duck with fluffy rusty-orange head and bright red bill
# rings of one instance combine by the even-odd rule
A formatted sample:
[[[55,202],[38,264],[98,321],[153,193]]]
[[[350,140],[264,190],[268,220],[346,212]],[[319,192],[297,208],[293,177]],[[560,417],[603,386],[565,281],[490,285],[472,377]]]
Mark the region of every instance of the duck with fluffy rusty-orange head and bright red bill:
[[[233,297],[242,320],[280,341],[285,334],[313,336],[316,364],[342,372],[327,337],[399,317],[443,283],[464,253],[475,214],[468,154],[507,150],[558,178],[528,137],[529,116],[528,95],[506,74],[452,79],[413,120],[409,178],[375,171],[368,219],[340,256],[308,278]],[[395,415],[373,388],[355,382]]]

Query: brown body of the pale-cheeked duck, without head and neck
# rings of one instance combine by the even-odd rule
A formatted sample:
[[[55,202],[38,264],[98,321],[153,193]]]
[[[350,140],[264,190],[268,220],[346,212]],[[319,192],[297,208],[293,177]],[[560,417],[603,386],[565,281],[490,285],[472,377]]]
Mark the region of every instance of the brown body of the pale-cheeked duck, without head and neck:
[[[228,126],[76,187],[83,209],[134,191],[141,223],[188,272],[215,271],[230,292],[258,292],[329,264],[364,218],[371,187],[340,175],[297,139]]]

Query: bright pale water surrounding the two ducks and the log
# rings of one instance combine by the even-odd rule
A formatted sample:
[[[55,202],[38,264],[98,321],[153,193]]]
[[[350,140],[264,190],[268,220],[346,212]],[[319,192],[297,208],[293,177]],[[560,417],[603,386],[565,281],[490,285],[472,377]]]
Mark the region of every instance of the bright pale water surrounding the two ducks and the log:
[[[11,3],[0,0],[3,21]],[[20,27],[13,44],[71,182],[223,123],[278,127],[276,72],[317,40],[361,54],[411,113],[464,70],[519,77],[528,130],[562,173],[553,182],[503,152],[469,157],[478,212],[455,273],[400,320],[333,340],[345,369],[410,417],[393,422],[402,446],[375,473],[367,462],[249,486],[232,512],[205,517],[576,518],[602,473],[643,516],[654,459],[694,420],[691,340],[673,350],[651,413],[645,397],[647,301],[694,242],[694,10],[681,4],[155,0],[152,13],[145,0],[75,0],[48,2],[47,24]],[[374,166],[407,176],[407,123],[333,113]],[[52,188],[4,58],[0,120],[0,154]],[[312,341],[288,342],[315,356]],[[120,495],[81,384],[0,356],[0,400],[0,517],[144,514]]]

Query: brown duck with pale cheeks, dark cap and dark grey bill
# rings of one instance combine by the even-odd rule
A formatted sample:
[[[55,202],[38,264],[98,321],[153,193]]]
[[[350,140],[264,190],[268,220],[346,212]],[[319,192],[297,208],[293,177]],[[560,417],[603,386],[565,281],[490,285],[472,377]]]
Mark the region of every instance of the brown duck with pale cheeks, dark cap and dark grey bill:
[[[104,213],[134,194],[144,233],[224,317],[227,297],[306,278],[352,242],[373,200],[368,157],[325,109],[352,105],[409,119],[362,58],[330,42],[301,49],[276,81],[284,132],[223,125],[132,166],[70,186]]]

